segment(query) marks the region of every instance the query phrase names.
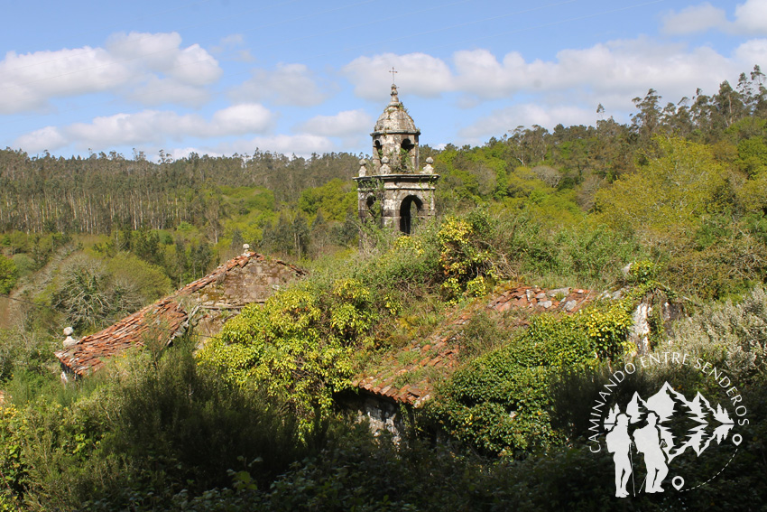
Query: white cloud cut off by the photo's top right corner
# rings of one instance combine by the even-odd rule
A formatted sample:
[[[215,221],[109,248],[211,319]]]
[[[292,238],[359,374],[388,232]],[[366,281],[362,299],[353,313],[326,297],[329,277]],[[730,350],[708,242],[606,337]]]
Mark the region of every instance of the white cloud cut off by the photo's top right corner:
[[[725,10],[709,3],[690,5],[663,17],[662,32],[679,35],[707,30],[743,35],[767,34],[767,0],[746,0],[735,6],[735,20],[727,20]]]

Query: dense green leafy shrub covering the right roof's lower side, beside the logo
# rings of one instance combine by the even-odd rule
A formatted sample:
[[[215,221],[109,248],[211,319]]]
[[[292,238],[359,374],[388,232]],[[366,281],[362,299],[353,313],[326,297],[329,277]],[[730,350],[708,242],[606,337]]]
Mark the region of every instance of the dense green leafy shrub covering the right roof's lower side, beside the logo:
[[[487,455],[522,457],[557,444],[550,380],[563,368],[595,368],[629,349],[627,303],[533,318],[521,336],[459,369],[430,405],[430,416]]]

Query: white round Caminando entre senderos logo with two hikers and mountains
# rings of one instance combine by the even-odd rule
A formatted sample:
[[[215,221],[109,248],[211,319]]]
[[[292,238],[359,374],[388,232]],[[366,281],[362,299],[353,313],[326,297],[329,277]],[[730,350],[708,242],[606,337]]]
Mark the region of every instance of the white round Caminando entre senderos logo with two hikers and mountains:
[[[664,352],[639,358],[635,363],[626,363],[615,371],[599,392],[589,419],[590,449],[612,455],[617,498],[664,492],[666,483],[679,492],[698,489],[725,469],[743,442],[737,432],[738,427],[748,424],[743,397],[722,369],[702,358]],[[627,403],[618,403],[616,391],[626,377],[638,367],[661,364],[694,368],[713,379],[711,384],[716,386],[710,387],[716,387],[719,393],[707,397],[697,392],[688,397],[666,381],[649,396],[635,392]],[[674,461],[700,458],[714,443],[730,447],[732,456],[710,478],[687,481]],[[642,474],[641,481],[635,478],[637,473]]]

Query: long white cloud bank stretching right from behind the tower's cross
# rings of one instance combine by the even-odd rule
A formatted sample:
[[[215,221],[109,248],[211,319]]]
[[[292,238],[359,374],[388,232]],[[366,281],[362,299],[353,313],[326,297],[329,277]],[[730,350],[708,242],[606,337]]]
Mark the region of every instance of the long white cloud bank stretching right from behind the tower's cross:
[[[418,70],[404,72],[419,62]],[[592,102],[608,96],[630,99],[656,88],[673,101],[696,88],[715,88],[724,79],[737,76],[739,62],[707,47],[693,50],[683,44],[654,42],[648,38],[596,44],[584,49],[559,51],[555,60],[526,61],[517,51],[499,59],[487,50],[456,51],[452,69],[446,61],[422,53],[360,57],[344,67],[357,96],[383,101],[386,78],[374,70],[402,70],[397,76],[402,94],[433,96],[455,91],[459,107],[479,102],[511,99],[520,93],[552,97],[568,95],[574,101]],[[751,64],[753,65],[753,64]],[[750,66],[749,66],[750,67]],[[400,79],[400,77],[403,77]],[[468,98],[467,98],[468,97]],[[558,101],[560,101],[558,99]]]

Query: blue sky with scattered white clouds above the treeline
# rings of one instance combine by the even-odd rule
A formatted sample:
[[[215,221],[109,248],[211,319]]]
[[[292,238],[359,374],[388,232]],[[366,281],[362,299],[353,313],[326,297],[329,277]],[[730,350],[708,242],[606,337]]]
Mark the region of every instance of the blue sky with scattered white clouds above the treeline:
[[[767,70],[767,0],[5,0],[0,147],[369,153],[392,68],[421,144],[626,122]]]

